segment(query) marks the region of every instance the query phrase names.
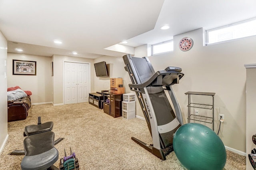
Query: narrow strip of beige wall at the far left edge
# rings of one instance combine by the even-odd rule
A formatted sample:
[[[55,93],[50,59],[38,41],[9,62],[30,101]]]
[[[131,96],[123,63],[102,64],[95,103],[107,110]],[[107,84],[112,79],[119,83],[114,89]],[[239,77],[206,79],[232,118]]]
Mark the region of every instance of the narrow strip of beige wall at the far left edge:
[[[7,41],[0,31],[0,154],[8,139],[7,133]]]

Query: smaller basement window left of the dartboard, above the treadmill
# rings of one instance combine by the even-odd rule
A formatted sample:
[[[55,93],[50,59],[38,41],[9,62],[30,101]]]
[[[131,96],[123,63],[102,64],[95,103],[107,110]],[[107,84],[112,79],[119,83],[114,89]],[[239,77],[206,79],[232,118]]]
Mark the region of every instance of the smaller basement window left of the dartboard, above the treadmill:
[[[173,51],[173,40],[152,45],[152,55]]]

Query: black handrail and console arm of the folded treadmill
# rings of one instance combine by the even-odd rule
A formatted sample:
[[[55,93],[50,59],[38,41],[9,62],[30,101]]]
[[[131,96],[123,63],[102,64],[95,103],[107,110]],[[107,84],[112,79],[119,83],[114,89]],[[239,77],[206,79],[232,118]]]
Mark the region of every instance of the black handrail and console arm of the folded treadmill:
[[[169,67],[167,67],[169,68]],[[170,69],[169,69],[170,70]],[[179,76],[179,79],[181,79],[181,77],[183,77],[183,73],[180,72],[180,71],[166,71],[166,70],[160,70],[160,71],[157,71],[154,75],[152,75],[146,82],[144,83],[140,83],[140,84],[129,84],[129,87],[130,88],[135,88],[135,89],[141,89],[141,88],[144,88],[144,87],[148,87],[148,86],[169,86],[171,84],[164,84],[162,82],[162,78],[163,76],[166,76],[166,75],[177,75]],[[160,77],[161,76],[161,77]],[[158,79],[158,77],[160,77],[160,81],[161,82],[158,82],[157,84],[152,84],[154,83],[155,81],[157,81],[156,79]]]

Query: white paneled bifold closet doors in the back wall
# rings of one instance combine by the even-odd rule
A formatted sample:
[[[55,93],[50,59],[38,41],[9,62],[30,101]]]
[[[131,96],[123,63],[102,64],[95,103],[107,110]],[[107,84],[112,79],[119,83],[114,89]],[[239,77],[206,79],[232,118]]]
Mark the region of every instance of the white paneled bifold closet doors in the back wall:
[[[89,64],[64,62],[65,104],[88,102]]]

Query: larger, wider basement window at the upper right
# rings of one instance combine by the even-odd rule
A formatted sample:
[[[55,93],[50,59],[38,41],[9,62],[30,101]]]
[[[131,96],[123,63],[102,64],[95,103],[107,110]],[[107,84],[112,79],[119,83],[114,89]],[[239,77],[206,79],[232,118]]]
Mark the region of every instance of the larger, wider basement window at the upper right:
[[[206,30],[206,44],[213,44],[256,35],[256,18]]]

